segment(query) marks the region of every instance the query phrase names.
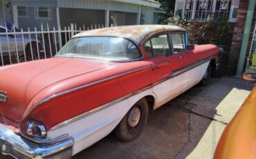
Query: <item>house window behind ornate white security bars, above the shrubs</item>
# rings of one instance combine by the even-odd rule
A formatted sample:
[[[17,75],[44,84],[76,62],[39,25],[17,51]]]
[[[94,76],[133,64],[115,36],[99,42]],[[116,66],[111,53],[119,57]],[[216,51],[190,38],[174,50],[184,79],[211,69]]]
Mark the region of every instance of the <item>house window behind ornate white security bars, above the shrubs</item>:
[[[210,21],[211,19],[230,17],[232,2],[239,0],[186,0],[184,17],[188,21]],[[231,13],[233,14],[233,13]]]

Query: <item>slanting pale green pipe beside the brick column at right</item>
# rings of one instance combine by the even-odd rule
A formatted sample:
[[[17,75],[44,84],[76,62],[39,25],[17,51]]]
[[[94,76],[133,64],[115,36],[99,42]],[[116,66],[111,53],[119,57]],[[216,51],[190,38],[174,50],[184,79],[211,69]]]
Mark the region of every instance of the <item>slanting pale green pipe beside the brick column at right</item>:
[[[253,15],[254,15],[256,0],[248,0],[248,1],[249,1],[249,6],[247,10],[247,15],[246,15],[246,25],[244,26],[244,35],[241,41],[241,50],[240,50],[239,60],[237,65],[237,74],[236,74],[237,77],[240,77],[241,73],[243,73],[243,70],[244,70],[244,61],[246,59],[246,50],[247,50],[248,41],[250,37],[250,29],[253,23]]]

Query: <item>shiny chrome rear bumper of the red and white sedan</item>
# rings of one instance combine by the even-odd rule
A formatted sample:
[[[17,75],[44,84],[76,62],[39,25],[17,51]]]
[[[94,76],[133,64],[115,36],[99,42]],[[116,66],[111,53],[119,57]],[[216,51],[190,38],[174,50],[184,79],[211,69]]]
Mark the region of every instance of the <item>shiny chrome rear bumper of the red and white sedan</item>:
[[[0,124],[0,150],[15,158],[71,158],[73,138],[36,144]]]

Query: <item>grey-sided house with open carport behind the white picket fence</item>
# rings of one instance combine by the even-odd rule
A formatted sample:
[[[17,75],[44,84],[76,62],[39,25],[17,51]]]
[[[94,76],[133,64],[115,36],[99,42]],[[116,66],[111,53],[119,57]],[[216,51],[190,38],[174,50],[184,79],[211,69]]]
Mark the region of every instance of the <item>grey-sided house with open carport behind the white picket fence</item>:
[[[50,28],[153,24],[154,8],[160,5],[154,0],[0,0],[0,25],[7,21],[26,30],[41,24]]]

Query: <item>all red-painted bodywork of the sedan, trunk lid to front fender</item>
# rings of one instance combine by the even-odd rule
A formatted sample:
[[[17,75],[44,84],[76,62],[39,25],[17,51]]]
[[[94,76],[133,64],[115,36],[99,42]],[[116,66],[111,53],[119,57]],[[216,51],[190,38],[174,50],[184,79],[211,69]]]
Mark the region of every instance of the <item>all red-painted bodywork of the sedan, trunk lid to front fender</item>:
[[[10,97],[8,102],[0,103],[0,122],[4,123],[4,117],[8,117],[16,123],[13,127],[19,129],[21,121],[33,119],[44,123],[48,131],[60,122],[161,82],[174,71],[219,52],[217,46],[202,45],[169,57],[148,58],[140,44],[145,58],[135,62],[53,57],[0,68],[0,88]],[[154,73],[154,69],[158,71]],[[102,79],[107,80],[99,82]],[[42,102],[80,86],[86,87]]]

